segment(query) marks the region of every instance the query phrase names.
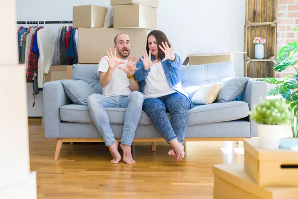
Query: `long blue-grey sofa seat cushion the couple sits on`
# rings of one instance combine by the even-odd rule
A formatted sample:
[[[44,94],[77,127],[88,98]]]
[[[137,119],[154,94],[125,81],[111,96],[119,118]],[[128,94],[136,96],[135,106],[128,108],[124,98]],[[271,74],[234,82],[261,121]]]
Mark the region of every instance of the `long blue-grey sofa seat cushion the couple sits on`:
[[[105,108],[110,124],[123,124],[126,108]],[[170,117],[169,113],[167,113]],[[248,116],[248,104],[244,101],[230,101],[196,105],[188,110],[188,125],[231,121]],[[60,107],[62,121],[93,124],[88,106],[70,104]],[[151,119],[143,111],[139,125],[150,125]]]

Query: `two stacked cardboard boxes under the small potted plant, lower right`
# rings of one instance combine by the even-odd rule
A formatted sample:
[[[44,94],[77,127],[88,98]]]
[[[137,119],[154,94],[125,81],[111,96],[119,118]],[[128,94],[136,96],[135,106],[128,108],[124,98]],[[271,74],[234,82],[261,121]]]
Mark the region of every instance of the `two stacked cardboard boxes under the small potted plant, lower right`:
[[[244,164],[214,165],[214,199],[298,199],[298,152],[244,140]]]

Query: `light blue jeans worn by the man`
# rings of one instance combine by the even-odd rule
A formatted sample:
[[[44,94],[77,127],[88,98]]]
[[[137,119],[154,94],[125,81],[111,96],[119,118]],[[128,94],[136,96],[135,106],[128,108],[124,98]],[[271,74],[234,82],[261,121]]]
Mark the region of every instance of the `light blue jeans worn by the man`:
[[[114,144],[116,139],[110,127],[109,117],[104,108],[127,108],[124,115],[121,143],[132,145],[141,118],[143,101],[144,96],[138,91],[132,92],[129,96],[106,97],[100,94],[93,94],[88,97],[87,103],[91,119],[97,127],[106,146]]]

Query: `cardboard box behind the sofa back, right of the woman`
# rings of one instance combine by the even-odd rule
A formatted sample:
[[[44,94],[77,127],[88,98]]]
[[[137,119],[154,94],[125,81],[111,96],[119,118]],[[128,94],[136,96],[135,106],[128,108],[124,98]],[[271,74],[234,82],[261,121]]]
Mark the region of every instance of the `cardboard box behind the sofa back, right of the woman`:
[[[233,53],[203,53],[203,54],[189,54],[185,58],[182,65],[200,65],[200,64],[212,64],[220,62],[233,61]]]

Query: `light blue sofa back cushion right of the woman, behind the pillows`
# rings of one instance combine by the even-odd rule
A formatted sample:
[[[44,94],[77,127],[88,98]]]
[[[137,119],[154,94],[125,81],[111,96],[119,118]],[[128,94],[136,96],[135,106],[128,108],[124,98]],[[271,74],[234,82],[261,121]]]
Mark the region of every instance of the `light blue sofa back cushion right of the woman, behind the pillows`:
[[[191,98],[196,86],[219,83],[227,77],[235,77],[234,62],[182,66],[180,79],[185,93]]]

